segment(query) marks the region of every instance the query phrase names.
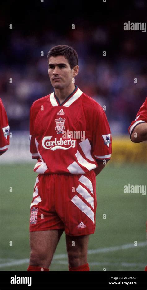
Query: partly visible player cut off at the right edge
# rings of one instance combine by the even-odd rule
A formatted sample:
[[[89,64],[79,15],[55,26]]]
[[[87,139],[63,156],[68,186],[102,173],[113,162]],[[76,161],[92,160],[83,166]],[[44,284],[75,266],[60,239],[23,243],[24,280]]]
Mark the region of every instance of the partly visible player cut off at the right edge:
[[[136,119],[129,126],[128,132],[132,142],[147,141],[147,98],[140,107]]]

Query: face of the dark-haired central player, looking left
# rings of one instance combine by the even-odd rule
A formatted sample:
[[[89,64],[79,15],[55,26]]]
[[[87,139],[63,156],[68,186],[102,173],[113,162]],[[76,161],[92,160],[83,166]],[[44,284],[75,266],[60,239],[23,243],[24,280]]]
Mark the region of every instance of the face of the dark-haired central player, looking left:
[[[63,89],[72,83],[72,78],[78,74],[78,66],[70,68],[68,60],[63,55],[51,56],[48,61],[48,75],[55,89]]]

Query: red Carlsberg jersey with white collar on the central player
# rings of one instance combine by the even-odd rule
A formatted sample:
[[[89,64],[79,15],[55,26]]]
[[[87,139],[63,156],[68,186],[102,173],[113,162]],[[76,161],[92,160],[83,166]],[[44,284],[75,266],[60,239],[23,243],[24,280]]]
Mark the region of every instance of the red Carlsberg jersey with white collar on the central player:
[[[102,107],[77,86],[60,104],[55,93],[30,109],[30,152],[41,174],[84,174],[109,160],[111,132]]]

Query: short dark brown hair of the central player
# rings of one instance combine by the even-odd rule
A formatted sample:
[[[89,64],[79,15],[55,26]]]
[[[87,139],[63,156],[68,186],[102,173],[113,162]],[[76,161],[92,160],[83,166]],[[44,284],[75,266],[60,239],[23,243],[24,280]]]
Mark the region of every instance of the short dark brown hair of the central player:
[[[65,59],[68,60],[71,69],[73,69],[76,65],[78,65],[77,52],[71,46],[57,45],[52,47],[47,54],[47,61],[49,61],[49,58],[51,56],[56,57],[58,55],[64,55]]]

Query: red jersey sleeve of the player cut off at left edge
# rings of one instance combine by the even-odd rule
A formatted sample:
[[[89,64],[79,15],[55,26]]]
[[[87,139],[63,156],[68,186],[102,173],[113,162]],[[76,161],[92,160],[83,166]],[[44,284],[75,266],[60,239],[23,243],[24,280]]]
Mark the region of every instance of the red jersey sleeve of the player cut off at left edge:
[[[2,100],[0,99],[0,155],[8,149],[9,145],[9,124],[7,113],[5,111]]]

